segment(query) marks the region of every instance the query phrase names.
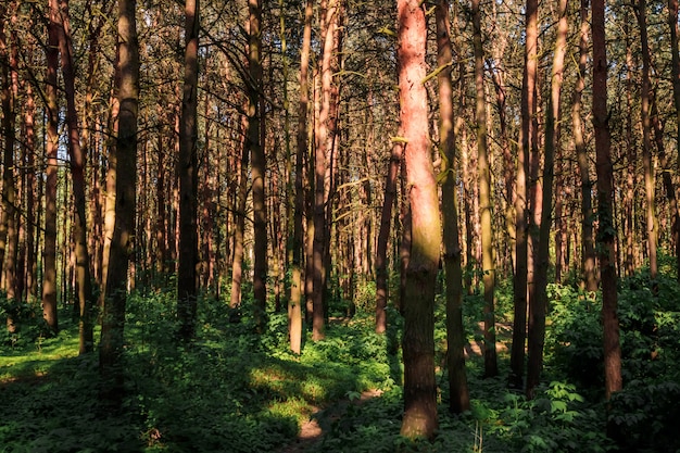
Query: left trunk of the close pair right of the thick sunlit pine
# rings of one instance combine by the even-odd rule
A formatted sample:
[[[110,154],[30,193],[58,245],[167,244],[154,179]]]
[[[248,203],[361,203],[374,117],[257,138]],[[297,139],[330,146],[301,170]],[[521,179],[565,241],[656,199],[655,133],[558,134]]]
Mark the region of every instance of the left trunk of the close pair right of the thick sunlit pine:
[[[515,313],[513,322],[513,348],[511,352],[509,385],[515,389],[524,386],[525,341],[527,336],[527,285],[528,285],[528,203],[527,177],[529,150],[534,141],[533,116],[536,114],[536,75],[538,65],[538,0],[526,3],[525,72],[521,88],[520,149],[517,153],[517,183],[515,199],[516,236],[514,278]]]

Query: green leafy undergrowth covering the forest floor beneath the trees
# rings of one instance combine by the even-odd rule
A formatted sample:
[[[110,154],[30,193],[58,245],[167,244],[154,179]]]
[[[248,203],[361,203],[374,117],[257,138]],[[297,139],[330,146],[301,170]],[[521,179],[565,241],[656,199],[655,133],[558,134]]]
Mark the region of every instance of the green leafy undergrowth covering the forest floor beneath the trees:
[[[401,438],[402,319],[389,309],[387,335],[374,334],[373,287],[355,304],[331,300],[326,339],[308,334],[300,356],[288,351],[287,315],[269,313],[255,334],[244,301],[240,322],[224,301],[201,298],[197,338],[176,340],[172,292],[136,293],[128,303],[125,397],[119,412],[98,402],[97,354],[77,355],[71,307],[50,337],[30,307],[0,345],[0,452],[675,452],[680,419],[680,286],[666,269],[620,281],[624,391],[609,411],[603,397],[601,301],[572,285],[550,285],[543,382],[533,400],[507,389],[508,350],[500,376],[467,360],[471,410],[448,411],[445,312],[436,309],[439,430],[431,441]],[[512,286],[502,284],[499,341],[509,347]],[[483,298],[466,295],[470,343]],[[353,318],[343,314],[356,310]],[[24,317],[20,316],[24,313]],[[379,390],[363,394],[366,390]],[[316,420],[322,435],[301,443]],[[618,443],[606,437],[606,425]]]

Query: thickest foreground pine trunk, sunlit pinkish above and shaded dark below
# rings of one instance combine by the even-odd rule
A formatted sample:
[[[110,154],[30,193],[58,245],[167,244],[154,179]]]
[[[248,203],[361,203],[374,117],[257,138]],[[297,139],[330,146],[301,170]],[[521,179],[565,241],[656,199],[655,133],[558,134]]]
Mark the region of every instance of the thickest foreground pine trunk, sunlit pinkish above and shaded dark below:
[[[435,288],[441,230],[428,143],[425,5],[399,0],[399,98],[411,204],[411,257],[404,293],[404,417],[401,433],[431,438],[438,426],[435,380]]]

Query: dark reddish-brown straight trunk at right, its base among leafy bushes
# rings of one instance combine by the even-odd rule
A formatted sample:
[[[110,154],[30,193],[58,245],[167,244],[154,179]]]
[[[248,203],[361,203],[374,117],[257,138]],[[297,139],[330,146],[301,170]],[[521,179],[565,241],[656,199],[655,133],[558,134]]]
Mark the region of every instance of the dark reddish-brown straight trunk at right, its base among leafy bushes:
[[[593,42],[593,127],[597,171],[597,244],[602,274],[602,319],[604,325],[605,395],[621,390],[621,348],[617,317],[616,254],[614,240],[614,172],[612,138],[607,112],[607,53],[605,40],[605,0],[592,0]]]

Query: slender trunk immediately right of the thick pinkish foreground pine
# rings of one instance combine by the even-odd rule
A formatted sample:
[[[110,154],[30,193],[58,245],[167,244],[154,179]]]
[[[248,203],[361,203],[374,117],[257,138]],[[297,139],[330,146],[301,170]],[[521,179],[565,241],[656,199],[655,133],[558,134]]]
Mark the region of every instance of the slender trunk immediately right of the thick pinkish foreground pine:
[[[475,1],[476,2],[476,1]],[[474,4],[475,4],[474,2]],[[479,3],[477,3],[479,7]],[[475,8],[473,5],[473,8]],[[440,0],[435,9],[437,18],[437,75],[439,85],[440,154],[444,162],[442,184],[442,221],[444,240],[444,270],[446,274],[446,364],[451,400],[449,410],[461,414],[470,408],[470,397],[465,373],[465,329],[463,327],[463,270],[458,240],[458,206],[456,200],[457,172],[455,169],[455,135],[451,63],[453,50],[449,23],[449,0]],[[401,143],[400,143],[401,144]]]

